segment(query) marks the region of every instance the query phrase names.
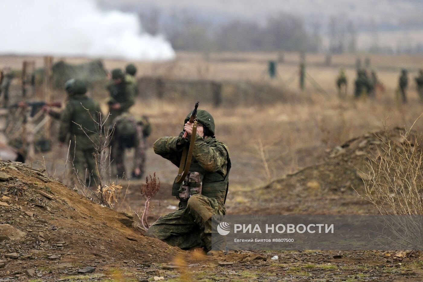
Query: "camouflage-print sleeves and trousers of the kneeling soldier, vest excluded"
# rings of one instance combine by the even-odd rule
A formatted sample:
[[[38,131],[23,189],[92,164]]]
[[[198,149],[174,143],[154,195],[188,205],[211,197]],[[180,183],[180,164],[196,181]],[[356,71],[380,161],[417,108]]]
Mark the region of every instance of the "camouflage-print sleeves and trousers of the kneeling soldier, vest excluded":
[[[179,166],[183,149],[183,146],[179,145],[180,140],[181,135],[159,138],[153,145],[154,152]],[[225,144],[213,137],[204,140],[203,137],[196,135],[192,155],[190,170],[193,164],[198,164],[205,171],[202,185],[207,182],[207,177],[220,176],[222,182],[227,179],[226,174],[230,169],[230,159]],[[187,182],[194,182],[195,185],[192,186],[198,187],[200,180],[198,175],[193,174],[191,179],[188,177]],[[169,245],[178,246],[181,249],[204,247],[206,250],[210,250],[210,219],[213,215],[225,215],[224,199],[220,196],[208,197],[201,194],[191,194],[187,201],[180,199],[179,210],[162,216],[151,225],[146,235],[159,238]]]

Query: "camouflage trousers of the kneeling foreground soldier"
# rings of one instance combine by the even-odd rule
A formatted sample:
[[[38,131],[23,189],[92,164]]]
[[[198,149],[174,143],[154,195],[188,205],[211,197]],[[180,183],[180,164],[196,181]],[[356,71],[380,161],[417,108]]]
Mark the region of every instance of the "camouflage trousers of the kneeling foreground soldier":
[[[159,218],[148,228],[146,236],[184,250],[204,248],[209,251],[213,215],[225,215],[225,207],[216,199],[192,195],[186,207],[181,206],[176,212]]]

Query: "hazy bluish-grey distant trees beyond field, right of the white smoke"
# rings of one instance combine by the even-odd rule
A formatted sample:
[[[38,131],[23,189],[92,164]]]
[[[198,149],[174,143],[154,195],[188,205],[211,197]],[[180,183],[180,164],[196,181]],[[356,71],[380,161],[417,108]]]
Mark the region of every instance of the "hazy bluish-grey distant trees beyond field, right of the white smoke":
[[[144,30],[164,33],[176,50],[315,52],[321,46],[319,28],[307,30],[302,19],[290,14],[269,17],[263,25],[240,19],[211,24],[184,12],[165,19],[159,11],[139,15]]]

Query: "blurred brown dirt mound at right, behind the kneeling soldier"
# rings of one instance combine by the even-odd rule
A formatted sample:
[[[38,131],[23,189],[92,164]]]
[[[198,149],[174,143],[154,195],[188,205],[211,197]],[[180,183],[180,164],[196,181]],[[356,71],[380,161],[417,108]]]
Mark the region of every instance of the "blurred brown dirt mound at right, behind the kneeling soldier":
[[[288,174],[266,185],[272,191],[286,189],[289,193],[307,196],[308,193],[343,192],[355,193],[364,190],[363,180],[368,179],[369,160],[375,160],[387,144],[401,145],[405,142],[404,128],[367,133],[353,138],[332,149],[323,162],[308,166],[294,174]],[[419,139],[411,131],[408,140]],[[276,195],[275,195],[276,196]]]

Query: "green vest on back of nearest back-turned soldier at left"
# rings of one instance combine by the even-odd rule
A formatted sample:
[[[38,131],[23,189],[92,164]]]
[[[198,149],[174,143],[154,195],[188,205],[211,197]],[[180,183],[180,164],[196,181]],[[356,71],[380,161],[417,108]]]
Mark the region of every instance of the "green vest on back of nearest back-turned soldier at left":
[[[71,135],[85,135],[85,133],[90,135],[93,132],[97,132],[97,124],[93,119],[96,121],[98,120],[98,105],[96,105],[91,98],[86,96],[71,98],[69,103],[71,103],[73,107]],[[83,130],[81,130],[80,126],[77,124],[80,124]]]

